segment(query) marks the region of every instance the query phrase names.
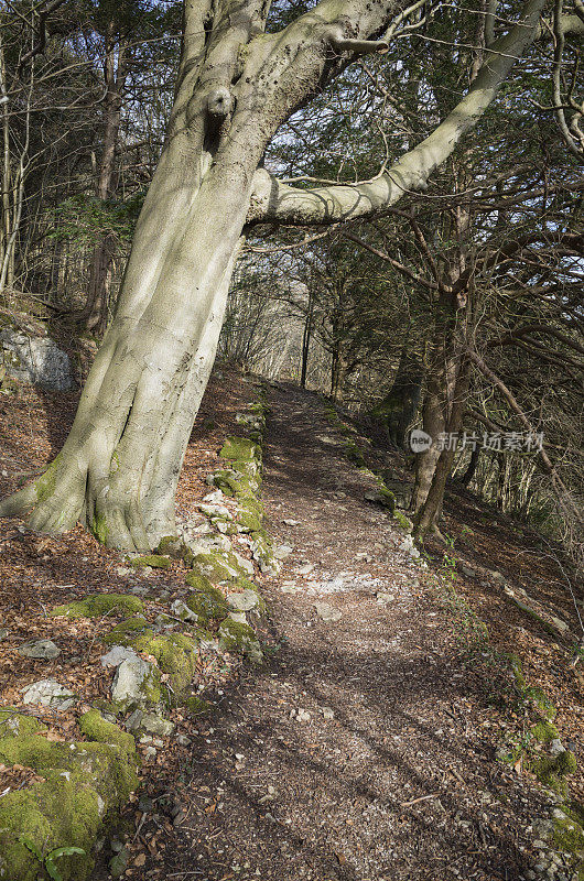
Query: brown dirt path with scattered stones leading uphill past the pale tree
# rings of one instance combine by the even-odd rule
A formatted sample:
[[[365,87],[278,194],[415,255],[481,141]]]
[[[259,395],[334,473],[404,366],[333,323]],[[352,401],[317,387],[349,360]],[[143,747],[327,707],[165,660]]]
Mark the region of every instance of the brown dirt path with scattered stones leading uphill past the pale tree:
[[[522,878],[537,805],[493,758],[484,677],[318,399],[271,396],[268,527],[293,546],[266,590],[280,648],[214,695],[165,877]]]

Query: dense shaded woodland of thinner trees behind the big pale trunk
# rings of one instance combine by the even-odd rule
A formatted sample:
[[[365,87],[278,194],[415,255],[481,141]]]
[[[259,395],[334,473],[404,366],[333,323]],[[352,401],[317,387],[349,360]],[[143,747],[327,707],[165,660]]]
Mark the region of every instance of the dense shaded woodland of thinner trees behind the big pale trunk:
[[[0,323],[55,338],[79,381],[163,146],[181,6],[14,0],[0,12]],[[271,26],[309,6],[275,4]],[[255,228],[219,356],[329,395],[412,467],[411,426],[466,433],[441,458],[444,479],[581,558],[583,96],[581,41],[554,28],[562,11],[424,193],[325,231]],[[388,53],[358,59],[284,124],[266,166],[300,185],[380,173],[466,90],[484,31],[482,0],[419,3]],[[483,448],[485,433],[512,432],[543,432],[543,452]]]

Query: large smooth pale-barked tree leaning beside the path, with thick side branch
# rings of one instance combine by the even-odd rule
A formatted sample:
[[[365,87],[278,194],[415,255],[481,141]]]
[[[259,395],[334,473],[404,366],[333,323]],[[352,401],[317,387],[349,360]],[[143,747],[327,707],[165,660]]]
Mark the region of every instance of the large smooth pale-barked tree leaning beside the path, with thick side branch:
[[[46,532],[80,519],[128,551],[175,533],[176,483],[246,231],[366,217],[423,189],[538,36],[544,0],[527,0],[515,18],[507,8],[497,18],[493,6],[483,13],[485,61],[429,137],[370,181],[304,189],[262,167],[267,145],[355,58],[385,52],[421,3],[322,0],[270,33],[266,0],[185,0],[166,143],[115,319],[63,449],[0,514],[28,514]]]

